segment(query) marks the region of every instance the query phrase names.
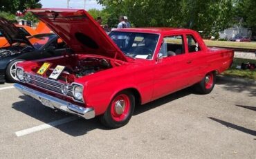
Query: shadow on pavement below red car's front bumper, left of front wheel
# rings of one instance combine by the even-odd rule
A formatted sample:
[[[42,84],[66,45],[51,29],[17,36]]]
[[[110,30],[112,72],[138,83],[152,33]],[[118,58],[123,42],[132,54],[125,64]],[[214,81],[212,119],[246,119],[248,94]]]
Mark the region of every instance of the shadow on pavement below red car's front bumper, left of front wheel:
[[[48,108],[47,106],[42,105],[39,101],[34,100],[33,98],[26,95],[19,96],[19,98],[21,98],[23,101],[12,104],[12,108],[41,122],[49,123],[72,116],[68,113]],[[38,125],[34,125],[33,127],[35,126]],[[85,135],[87,132],[93,129],[106,129],[102,126],[102,124],[100,124],[100,122],[98,122],[97,118],[92,120],[77,118],[77,120],[72,122],[66,122],[64,124],[57,125],[55,128],[74,137]]]

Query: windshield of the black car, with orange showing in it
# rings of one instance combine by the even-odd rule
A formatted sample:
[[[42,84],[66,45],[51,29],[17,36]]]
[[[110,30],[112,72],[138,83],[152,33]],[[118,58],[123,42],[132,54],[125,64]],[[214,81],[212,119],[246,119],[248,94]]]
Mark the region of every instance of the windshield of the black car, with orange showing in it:
[[[30,43],[34,46],[35,49],[39,50],[44,46],[45,44],[48,43],[48,41],[51,41],[51,39],[55,38],[56,35],[54,34],[48,34],[48,35],[35,35],[32,37],[29,37],[28,40]]]

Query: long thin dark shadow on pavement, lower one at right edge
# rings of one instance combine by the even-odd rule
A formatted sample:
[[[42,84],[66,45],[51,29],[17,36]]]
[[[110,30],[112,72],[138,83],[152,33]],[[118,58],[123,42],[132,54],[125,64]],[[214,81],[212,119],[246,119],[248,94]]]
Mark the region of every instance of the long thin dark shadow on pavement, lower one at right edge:
[[[247,129],[247,128],[244,128],[244,127],[240,127],[240,126],[238,126],[236,124],[232,124],[230,122],[225,122],[223,120],[219,120],[219,119],[216,119],[216,118],[212,118],[212,117],[208,117],[208,118],[211,119],[211,120],[214,120],[215,122],[219,122],[220,124],[223,124],[226,127],[230,127],[232,129],[236,129],[238,131],[241,131],[241,132],[244,132],[244,133],[248,133],[250,135],[254,135],[254,136],[256,135],[256,131],[254,131],[254,130],[250,130],[250,129]]]

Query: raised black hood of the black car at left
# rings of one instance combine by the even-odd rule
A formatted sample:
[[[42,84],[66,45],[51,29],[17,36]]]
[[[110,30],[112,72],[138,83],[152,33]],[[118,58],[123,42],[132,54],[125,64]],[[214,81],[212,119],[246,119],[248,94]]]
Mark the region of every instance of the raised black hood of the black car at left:
[[[24,35],[24,32],[3,17],[0,17],[0,32],[3,37],[6,37],[10,45],[19,42],[33,47],[33,45],[30,44],[30,41],[26,38],[26,35]]]

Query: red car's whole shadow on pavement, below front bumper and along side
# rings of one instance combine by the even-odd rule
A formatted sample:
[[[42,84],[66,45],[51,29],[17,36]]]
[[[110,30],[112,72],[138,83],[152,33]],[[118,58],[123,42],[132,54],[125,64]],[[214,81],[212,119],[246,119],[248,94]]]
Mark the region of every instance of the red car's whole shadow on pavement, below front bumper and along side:
[[[137,106],[134,111],[134,115],[149,111],[150,109],[154,109],[157,106],[161,106],[167,102],[172,102],[190,94],[190,91],[188,89],[185,89],[183,91],[167,95],[166,97],[162,97],[161,99],[150,102],[149,104]],[[19,96],[19,98],[21,98],[23,101],[12,104],[12,108],[26,115],[29,115],[30,117],[35,118],[36,120],[39,120],[41,122],[49,123],[71,116],[65,112],[56,111],[48,108],[47,106],[42,105],[39,101],[34,100],[32,97],[21,95]],[[82,118],[78,118],[77,120],[74,120],[72,122],[66,122],[64,124],[55,126],[55,128],[74,137],[85,135],[86,133],[94,129],[109,130],[106,127],[102,126],[102,124],[100,124],[97,117],[91,120],[84,120]]]

